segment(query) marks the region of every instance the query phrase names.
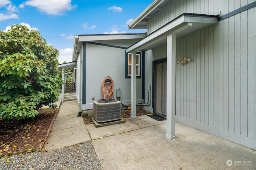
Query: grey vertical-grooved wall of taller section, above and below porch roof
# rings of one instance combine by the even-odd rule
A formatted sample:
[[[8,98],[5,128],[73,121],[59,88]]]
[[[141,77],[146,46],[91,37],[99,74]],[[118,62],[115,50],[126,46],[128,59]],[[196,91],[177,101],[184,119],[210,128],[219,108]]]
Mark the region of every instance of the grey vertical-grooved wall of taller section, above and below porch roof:
[[[252,2],[172,1],[148,21],[148,34],[184,12],[224,15]],[[253,7],[176,40],[176,60],[191,58],[176,64],[176,121],[254,149],[255,18]],[[145,63],[152,67],[152,61],[166,57],[166,44],[145,54]],[[145,70],[152,77],[152,68]]]

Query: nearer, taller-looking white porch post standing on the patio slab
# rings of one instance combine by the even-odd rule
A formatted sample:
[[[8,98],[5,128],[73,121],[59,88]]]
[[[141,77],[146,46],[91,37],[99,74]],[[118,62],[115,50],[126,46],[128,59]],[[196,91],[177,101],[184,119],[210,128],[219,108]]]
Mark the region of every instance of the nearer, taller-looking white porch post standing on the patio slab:
[[[166,134],[174,140],[175,135],[175,91],[176,91],[176,34],[167,36],[167,87],[166,87]]]

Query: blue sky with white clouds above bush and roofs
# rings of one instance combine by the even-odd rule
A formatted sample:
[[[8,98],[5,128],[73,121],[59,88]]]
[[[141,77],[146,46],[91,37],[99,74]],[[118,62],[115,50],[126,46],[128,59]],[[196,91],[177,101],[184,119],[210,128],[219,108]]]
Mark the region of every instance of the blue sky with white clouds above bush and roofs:
[[[0,30],[14,24],[36,29],[58,49],[59,62],[72,60],[74,35],[144,33],[128,30],[152,0],[0,0]]]

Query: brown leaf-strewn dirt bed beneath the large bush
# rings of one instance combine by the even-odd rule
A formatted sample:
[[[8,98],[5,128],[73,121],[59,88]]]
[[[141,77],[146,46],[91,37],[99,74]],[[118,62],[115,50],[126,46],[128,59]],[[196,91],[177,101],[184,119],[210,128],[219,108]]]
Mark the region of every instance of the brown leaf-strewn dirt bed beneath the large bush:
[[[32,123],[27,119],[0,119],[0,157],[42,149],[58,110],[39,109]]]

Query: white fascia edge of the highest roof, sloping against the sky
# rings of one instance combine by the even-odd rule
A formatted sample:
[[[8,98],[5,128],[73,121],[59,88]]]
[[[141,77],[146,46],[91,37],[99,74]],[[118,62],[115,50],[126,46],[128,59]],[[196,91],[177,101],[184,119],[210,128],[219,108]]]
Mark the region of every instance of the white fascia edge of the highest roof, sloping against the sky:
[[[158,4],[161,4],[162,2],[164,2],[164,0],[154,0],[151,4],[149,4],[149,6],[142,11],[129,25],[128,25],[128,29],[131,30],[133,29],[141,20],[143,20],[145,18],[145,16],[147,16],[147,14],[149,14],[150,12],[152,12],[152,10],[154,10],[155,8],[157,8]]]

